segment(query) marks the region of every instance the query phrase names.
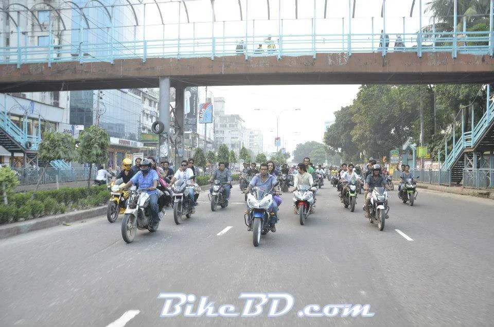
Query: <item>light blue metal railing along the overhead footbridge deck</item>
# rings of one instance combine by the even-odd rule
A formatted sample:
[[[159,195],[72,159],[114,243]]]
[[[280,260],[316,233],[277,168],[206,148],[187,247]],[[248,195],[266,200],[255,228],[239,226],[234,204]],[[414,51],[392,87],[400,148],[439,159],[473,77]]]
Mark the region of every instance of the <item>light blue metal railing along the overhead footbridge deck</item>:
[[[187,24],[185,24],[187,25]],[[316,53],[351,53],[381,52],[385,56],[389,52],[414,52],[421,57],[423,52],[449,52],[453,57],[456,53],[491,55],[492,35],[489,31],[467,32],[418,32],[405,33],[400,31],[386,34],[401,33],[406,46],[380,46],[380,33],[279,33],[274,42],[274,49],[257,49],[258,44],[267,45],[265,40],[272,35],[234,35],[201,38],[171,38],[157,40],[118,41],[108,43],[60,44],[48,46],[18,45],[0,47],[0,64],[51,63],[54,62],[111,62],[115,59],[138,58],[146,62],[149,58],[199,58],[236,56],[315,56]],[[245,50],[237,50],[238,40],[248,39]],[[386,38],[386,43],[393,44],[395,38]],[[379,44],[379,45],[376,45]]]

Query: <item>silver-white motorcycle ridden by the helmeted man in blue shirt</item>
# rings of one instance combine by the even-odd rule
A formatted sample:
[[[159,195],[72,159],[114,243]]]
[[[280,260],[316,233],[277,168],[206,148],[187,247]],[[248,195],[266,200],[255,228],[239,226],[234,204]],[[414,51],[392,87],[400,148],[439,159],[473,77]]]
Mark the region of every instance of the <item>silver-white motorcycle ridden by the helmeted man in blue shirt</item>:
[[[162,196],[163,192],[156,190],[158,197]],[[134,241],[137,229],[147,229],[154,232],[160,226],[160,222],[152,223],[151,206],[149,205],[149,194],[145,190],[137,190],[135,186],[129,189],[129,199],[127,201],[127,209],[122,219],[122,238],[123,241],[131,243]],[[159,208],[161,211],[163,208]]]

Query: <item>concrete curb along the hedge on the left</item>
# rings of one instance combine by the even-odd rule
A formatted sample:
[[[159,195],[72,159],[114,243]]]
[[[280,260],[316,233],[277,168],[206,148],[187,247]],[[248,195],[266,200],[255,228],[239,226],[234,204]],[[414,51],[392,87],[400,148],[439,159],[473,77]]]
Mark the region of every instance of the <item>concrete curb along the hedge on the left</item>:
[[[0,226],[0,240],[34,230],[55,227],[63,222],[71,223],[78,220],[93,218],[95,216],[103,215],[106,212],[107,206],[101,206],[3,225]]]

